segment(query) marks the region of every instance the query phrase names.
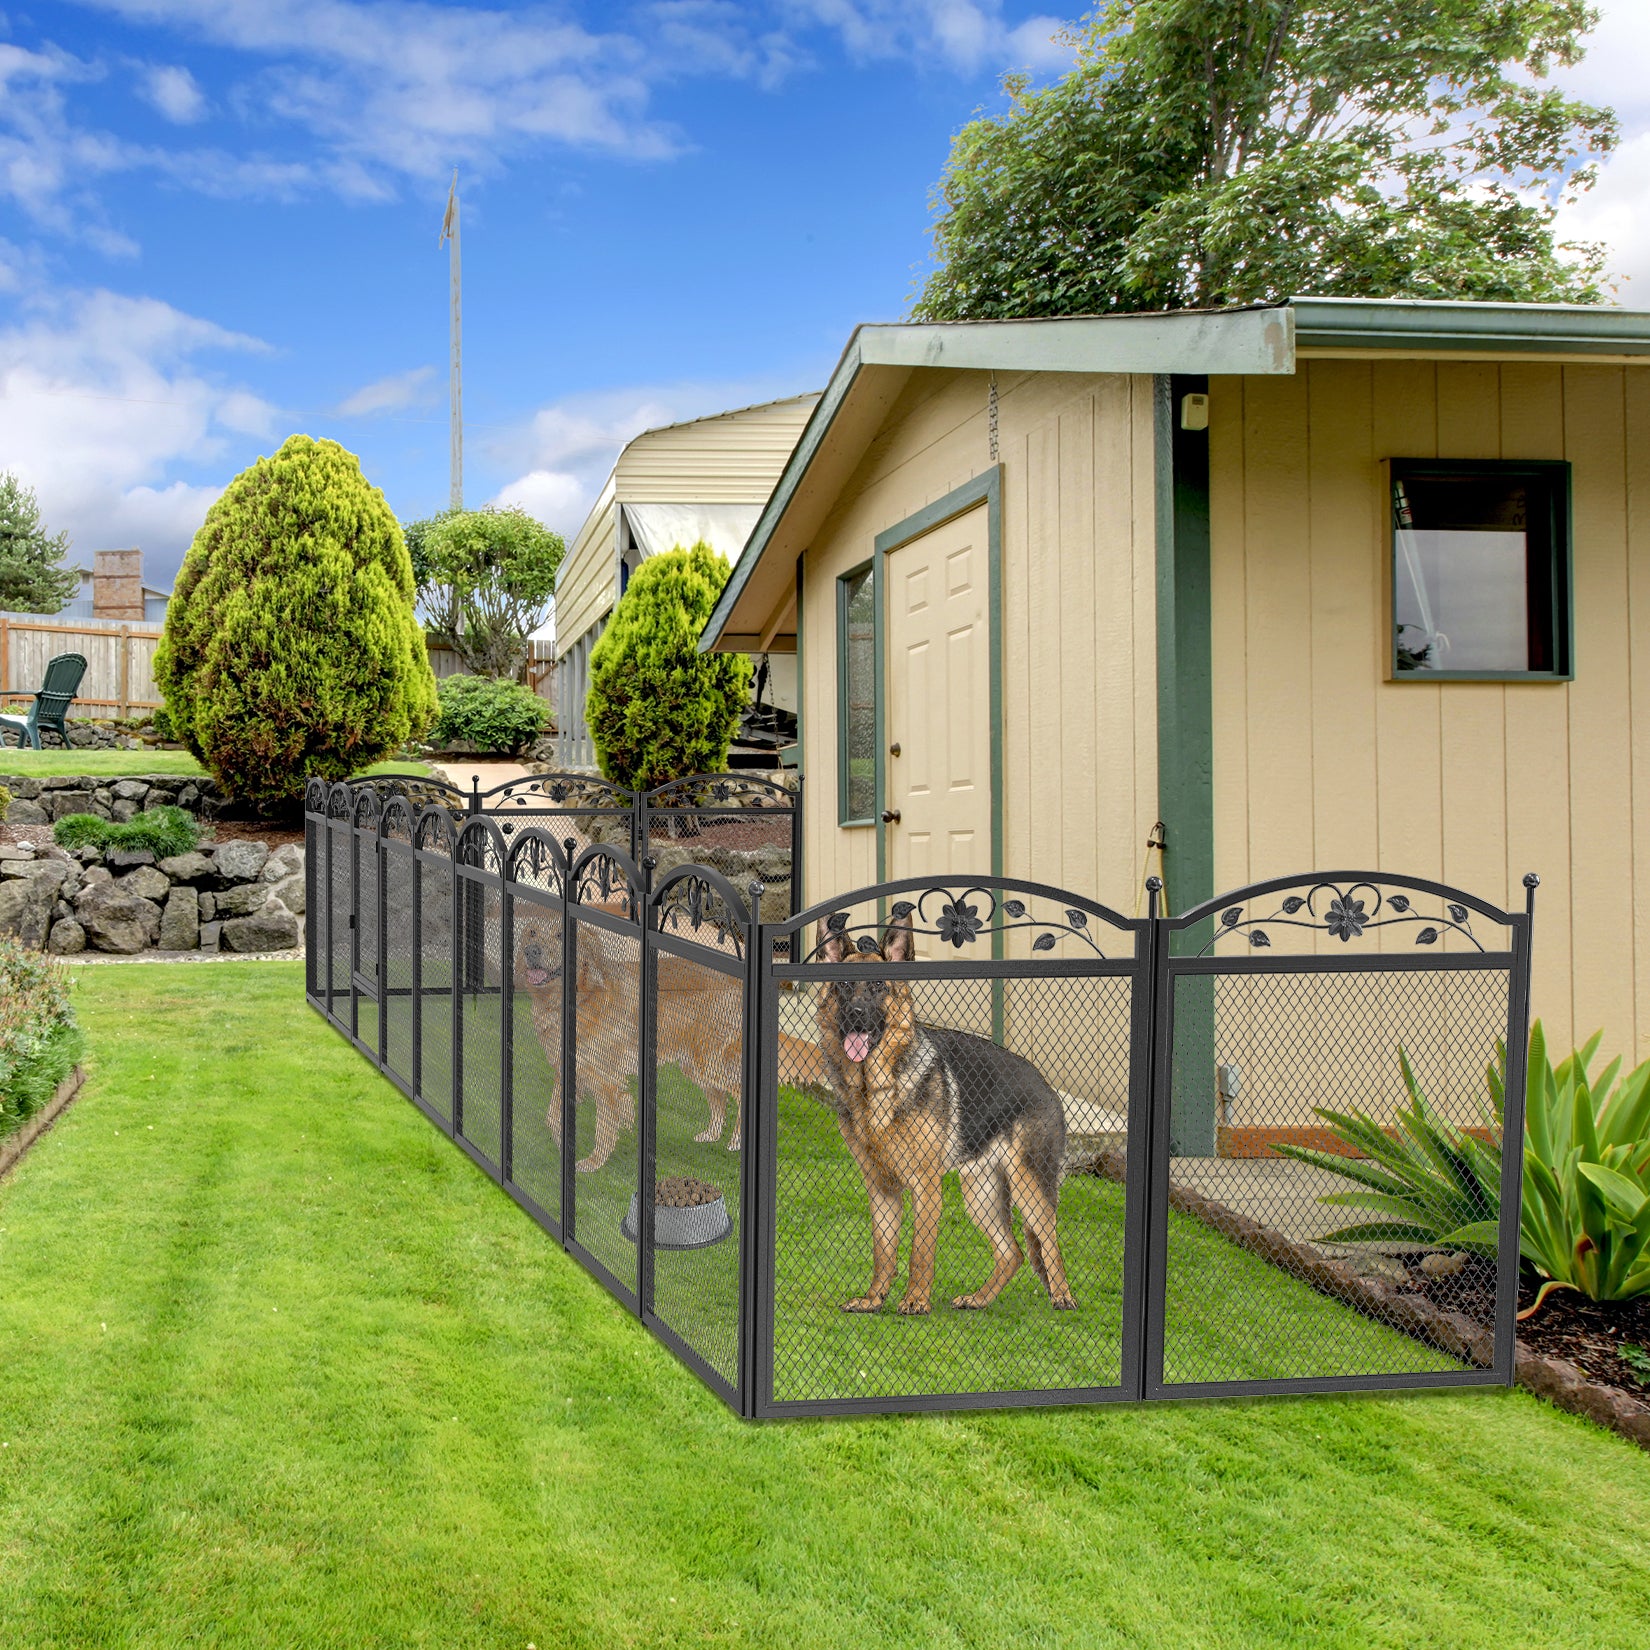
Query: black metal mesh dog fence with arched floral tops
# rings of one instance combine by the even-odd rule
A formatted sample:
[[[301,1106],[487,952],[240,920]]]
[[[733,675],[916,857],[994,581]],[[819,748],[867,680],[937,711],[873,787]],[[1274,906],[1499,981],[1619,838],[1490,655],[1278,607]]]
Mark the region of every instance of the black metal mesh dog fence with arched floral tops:
[[[670,840],[777,868],[784,802],[714,784]],[[310,787],[307,992],[741,1414],[1511,1378],[1530,901],[916,878],[776,917],[533,795]],[[1381,1201],[1417,1140],[1457,1234]]]

